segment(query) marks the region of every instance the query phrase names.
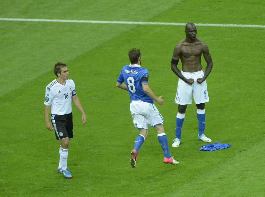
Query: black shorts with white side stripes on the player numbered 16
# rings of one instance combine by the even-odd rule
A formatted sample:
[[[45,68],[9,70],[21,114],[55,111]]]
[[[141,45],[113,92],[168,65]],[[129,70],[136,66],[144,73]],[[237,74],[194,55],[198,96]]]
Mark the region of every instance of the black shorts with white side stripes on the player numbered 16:
[[[55,131],[56,140],[64,138],[73,138],[73,115],[54,115],[51,114],[51,120]]]

